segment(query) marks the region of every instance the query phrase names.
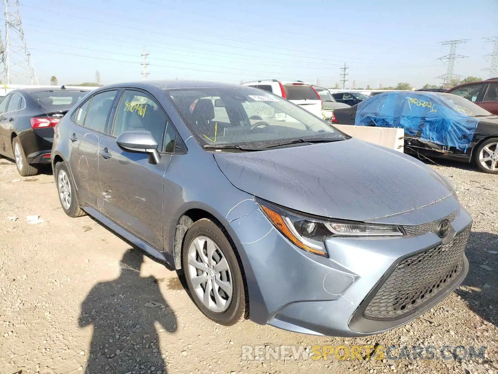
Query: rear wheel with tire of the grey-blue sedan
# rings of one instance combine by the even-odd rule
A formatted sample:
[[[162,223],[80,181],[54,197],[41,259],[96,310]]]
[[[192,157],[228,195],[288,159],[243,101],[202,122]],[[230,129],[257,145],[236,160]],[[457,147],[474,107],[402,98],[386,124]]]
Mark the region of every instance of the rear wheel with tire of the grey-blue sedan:
[[[57,194],[64,212],[73,218],[86,215],[85,211],[80,207],[76,187],[66,163],[58,162],[55,164],[54,176]]]

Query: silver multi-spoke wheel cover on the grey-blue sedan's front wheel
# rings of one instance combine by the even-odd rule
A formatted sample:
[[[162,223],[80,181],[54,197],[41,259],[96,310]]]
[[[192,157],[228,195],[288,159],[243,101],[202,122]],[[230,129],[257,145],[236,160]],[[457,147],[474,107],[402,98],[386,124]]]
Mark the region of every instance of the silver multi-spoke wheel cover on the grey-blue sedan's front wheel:
[[[190,243],[187,258],[187,273],[197,298],[212,312],[226,311],[234,287],[230,267],[218,244],[207,236],[198,236]]]

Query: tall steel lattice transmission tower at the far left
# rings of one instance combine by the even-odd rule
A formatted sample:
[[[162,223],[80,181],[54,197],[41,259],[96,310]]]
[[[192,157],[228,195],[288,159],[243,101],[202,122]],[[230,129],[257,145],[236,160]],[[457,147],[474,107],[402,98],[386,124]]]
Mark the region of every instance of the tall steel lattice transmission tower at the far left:
[[[3,82],[38,84],[22,29],[19,0],[3,0],[3,16],[5,18],[5,44],[1,48]]]

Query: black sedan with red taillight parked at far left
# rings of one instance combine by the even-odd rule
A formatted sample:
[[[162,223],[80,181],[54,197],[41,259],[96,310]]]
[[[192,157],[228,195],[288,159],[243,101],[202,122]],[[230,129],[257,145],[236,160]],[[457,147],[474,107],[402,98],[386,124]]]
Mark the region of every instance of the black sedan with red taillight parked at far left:
[[[26,88],[0,101],[0,155],[15,160],[22,177],[50,164],[54,126],[88,90]]]

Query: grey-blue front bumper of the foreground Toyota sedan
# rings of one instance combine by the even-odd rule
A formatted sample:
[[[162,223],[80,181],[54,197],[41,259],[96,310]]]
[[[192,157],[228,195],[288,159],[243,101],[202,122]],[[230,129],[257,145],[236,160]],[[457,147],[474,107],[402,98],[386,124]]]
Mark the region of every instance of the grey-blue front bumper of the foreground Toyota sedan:
[[[450,214],[458,205],[457,202],[441,204],[441,210],[447,210],[441,215]],[[465,234],[470,231],[471,224],[469,213],[459,207],[451,222],[452,235]],[[408,280],[405,285],[396,283],[397,288],[391,293],[384,292],[387,296],[380,295],[380,301],[377,297],[376,304],[369,307],[379,290],[392,280],[389,277],[393,272],[399,270],[400,264],[405,265],[403,261],[416,255],[423,256],[430,249],[443,245],[435,233],[391,238],[329,238],[325,241],[329,258],[322,258],[290,243],[259,210],[233,220],[227,229],[238,238],[234,241],[248,283],[249,318],[259,324],[293,332],[357,337],[390,330],[441,301],[463,281],[468,271],[463,252],[467,243],[465,237],[459,244],[458,271],[444,282],[436,279],[435,282],[441,284],[436,287],[438,292],[434,295],[425,291],[426,295],[421,296],[425,285],[416,284],[415,276],[412,293],[402,292],[410,288]],[[446,244],[448,248],[453,246],[452,241]],[[440,260],[444,261],[446,251],[440,252]],[[428,256],[426,261],[432,263],[433,260]],[[389,299],[388,296],[395,292],[404,295],[404,303],[395,296]],[[415,303],[411,304],[413,300]],[[406,312],[399,311],[402,305],[405,305]],[[374,307],[377,307],[377,312],[378,308],[390,312],[375,314],[372,312]],[[365,312],[367,308],[370,308],[369,313]]]

